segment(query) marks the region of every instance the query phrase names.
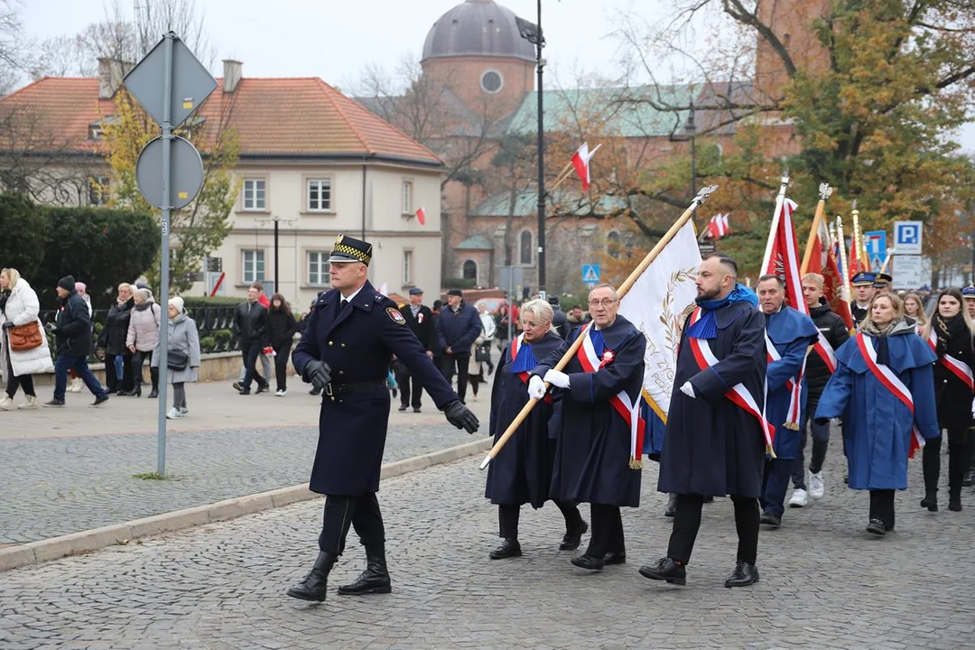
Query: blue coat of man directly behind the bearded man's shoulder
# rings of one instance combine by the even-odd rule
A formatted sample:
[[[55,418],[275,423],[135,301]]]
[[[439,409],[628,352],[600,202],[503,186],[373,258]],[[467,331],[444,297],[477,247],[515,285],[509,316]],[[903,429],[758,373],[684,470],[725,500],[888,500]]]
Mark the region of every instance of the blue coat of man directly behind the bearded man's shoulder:
[[[786,381],[795,379],[799,374],[809,346],[815,345],[819,338],[819,330],[816,329],[816,324],[811,318],[792,307],[783,306],[775,314],[765,317],[765,331],[768,332],[768,338],[780,357],[778,361],[768,363],[768,369],[765,371],[768,387],[765,397],[765,417],[775,427],[773,445],[775,456],[782,460],[789,460],[799,454],[800,432],[798,429],[787,429],[784,426],[789,417],[789,402],[792,401],[792,391],[786,388]],[[805,409],[807,395],[804,389],[804,378],[802,383],[800,407]]]

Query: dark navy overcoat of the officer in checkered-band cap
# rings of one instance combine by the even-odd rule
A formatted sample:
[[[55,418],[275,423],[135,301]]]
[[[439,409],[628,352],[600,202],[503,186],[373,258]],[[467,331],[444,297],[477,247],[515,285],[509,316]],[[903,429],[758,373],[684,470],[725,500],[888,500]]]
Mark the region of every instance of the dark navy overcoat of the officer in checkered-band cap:
[[[320,494],[361,496],[379,489],[389,425],[389,391],[383,382],[392,355],[419,378],[438,408],[457,395],[427,357],[396,303],[368,282],[339,316],[340,299],[338,289],[331,289],[312,306],[292,363],[298,375],[313,359],[328,363],[333,384],[377,384],[354,393],[330,396],[328,388],[323,392],[309,483]]]

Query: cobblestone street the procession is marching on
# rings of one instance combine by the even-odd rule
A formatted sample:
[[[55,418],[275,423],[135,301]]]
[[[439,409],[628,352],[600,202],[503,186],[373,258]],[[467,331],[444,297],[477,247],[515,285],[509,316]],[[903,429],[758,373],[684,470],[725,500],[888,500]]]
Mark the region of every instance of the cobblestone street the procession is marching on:
[[[551,505],[523,514],[523,557],[489,560],[496,511],[469,459],[383,484],[391,594],[284,595],[316,554],[321,502],[306,502],[0,574],[0,647],[975,647],[975,492],[962,513],[928,514],[913,463],[896,532],[871,538],[868,495],[838,488],[832,451],[826,498],[762,531],[751,588],[722,586],[735,548],[726,499],[705,509],[687,587],[637,573],[670,531],[652,464],[643,507],[624,511],[628,564],[572,567]],[[332,590],[364,564],[350,542]]]

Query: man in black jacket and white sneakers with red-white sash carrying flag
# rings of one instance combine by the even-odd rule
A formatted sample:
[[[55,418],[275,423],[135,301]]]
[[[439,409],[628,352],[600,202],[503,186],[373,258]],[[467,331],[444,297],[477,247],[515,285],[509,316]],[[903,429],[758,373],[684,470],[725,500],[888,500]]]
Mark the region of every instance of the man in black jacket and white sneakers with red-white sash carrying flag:
[[[839,346],[849,339],[850,333],[839,314],[836,314],[823,298],[823,276],[818,273],[807,273],[802,277],[802,295],[805,304],[809,306],[809,316],[819,329],[818,345],[809,352],[805,362],[805,381],[808,391],[808,403],[802,415],[802,437],[800,439],[799,455],[793,465],[793,495],[789,500],[792,508],[801,508],[808,503],[808,498],[819,499],[826,491],[823,481],[823,461],[826,459],[826,448],[830,443],[830,425],[816,424],[809,417],[809,413],[816,412],[819,397],[826,388],[833,370],[836,368],[836,351]],[[828,349],[827,349],[828,347]],[[832,359],[831,359],[832,357]],[[827,360],[830,365],[827,365]],[[805,484],[805,442],[808,440],[806,424],[812,432],[812,457],[809,459],[809,485]]]

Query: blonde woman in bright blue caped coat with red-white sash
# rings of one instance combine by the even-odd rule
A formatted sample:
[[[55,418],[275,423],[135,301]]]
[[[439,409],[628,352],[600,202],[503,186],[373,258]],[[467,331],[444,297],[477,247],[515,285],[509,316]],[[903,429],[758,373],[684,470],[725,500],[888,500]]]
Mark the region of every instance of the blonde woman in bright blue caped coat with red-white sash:
[[[819,398],[819,424],[843,416],[849,486],[870,490],[867,532],[873,535],[894,529],[894,490],[908,487],[915,428],[927,444],[941,436],[934,360],[904,320],[904,303],[884,293],[871,300],[860,331],[837,351],[836,372]]]

